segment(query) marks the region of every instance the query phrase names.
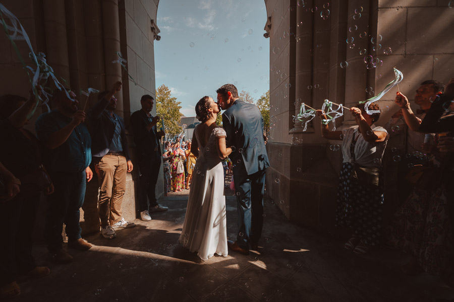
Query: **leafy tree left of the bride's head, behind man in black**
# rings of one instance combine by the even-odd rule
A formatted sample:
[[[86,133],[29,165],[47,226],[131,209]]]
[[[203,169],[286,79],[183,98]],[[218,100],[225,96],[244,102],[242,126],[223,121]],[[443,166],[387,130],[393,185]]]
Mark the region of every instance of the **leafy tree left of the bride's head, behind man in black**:
[[[167,86],[161,85],[156,89],[156,112],[158,116],[164,119],[165,134],[167,136],[173,137],[183,131],[180,126],[181,117],[183,116],[180,113],[180,104],[181,102],[177,102],[177,98],[172,97],[171,91]]]

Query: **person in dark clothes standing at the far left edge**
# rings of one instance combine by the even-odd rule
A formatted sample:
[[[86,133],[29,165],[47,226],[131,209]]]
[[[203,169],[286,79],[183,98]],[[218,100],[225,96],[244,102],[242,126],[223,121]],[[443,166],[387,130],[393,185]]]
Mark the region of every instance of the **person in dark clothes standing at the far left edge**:
[[[0,212],[5,228],[0,229],[1,297],[21,293],[19,274],[34,277],[48,275],[46,266],[37,266],[32,256],[33,229],[41,191],[53,193],[53,185],[42,166],[38,141],[23,126],[36,109],[36,99],[14,95],[0,97],[0,176],[5,181],[5,195],[0,196]],[[21,191],[22,189],[22,191]]]

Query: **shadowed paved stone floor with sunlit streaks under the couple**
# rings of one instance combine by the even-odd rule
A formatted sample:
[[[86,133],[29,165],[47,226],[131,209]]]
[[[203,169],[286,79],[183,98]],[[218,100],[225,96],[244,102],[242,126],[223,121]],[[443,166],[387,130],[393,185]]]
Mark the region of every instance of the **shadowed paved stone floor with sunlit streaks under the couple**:
[[[136,220],[117,238],[94,234],[86,252],[69,250],[74,261],[54,265],[42,244],[34,254],[51,269],[40,279],[21,279],[15,301],[435,301],[453,291],[429,275],[410,277],[408,258],[392,250],[356,255],[344,240],[290,223],[265,201],[259,251],[198,261],[177,244],[187,197],[168,198],[169,210],[151,221]],[[228,196],[230,238],[236,233],[236,201]],[[173,199],[173,200],[171,200]],[[431,297],[430,297],[431,296]]]

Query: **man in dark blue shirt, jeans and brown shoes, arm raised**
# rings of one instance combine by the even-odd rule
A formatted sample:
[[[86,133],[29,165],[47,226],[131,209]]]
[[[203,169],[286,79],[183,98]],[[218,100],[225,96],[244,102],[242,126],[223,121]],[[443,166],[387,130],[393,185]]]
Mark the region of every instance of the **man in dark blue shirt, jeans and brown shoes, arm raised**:
[[[76,94],[55,90],[55,109],[42,114],[36,121],[36,134],[43,147],[43,159],[55,187],[47,197],[45,221],[47,249],[56,263],[67,263],[73,257],[62,248],[63,223],[66,225],[68,247],[88,250],[91,245],[80,236],[80,207],[84,203],[86,181],[93,173],[91,137],[85,125],[85,112],[78,110]]]

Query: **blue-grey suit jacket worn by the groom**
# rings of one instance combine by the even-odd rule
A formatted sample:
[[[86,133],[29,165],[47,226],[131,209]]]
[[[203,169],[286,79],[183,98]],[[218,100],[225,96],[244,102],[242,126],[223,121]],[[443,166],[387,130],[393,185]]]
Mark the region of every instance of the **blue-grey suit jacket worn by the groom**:
[[[236,148],[229,156],[235,165],[234,177],[237,173],[246,177],[269,167],[263,117],[257,106],[236,100],[222,114],[222,127],[227,134],[227,146]]]

